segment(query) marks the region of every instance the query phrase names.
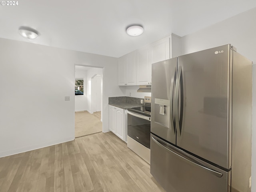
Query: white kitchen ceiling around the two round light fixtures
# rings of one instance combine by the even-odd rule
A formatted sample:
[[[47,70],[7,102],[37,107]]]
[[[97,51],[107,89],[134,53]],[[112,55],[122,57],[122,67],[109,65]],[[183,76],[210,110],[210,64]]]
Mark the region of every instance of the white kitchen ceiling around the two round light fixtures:
[[[120,57],[254,7],[256,0],[18,0],[16,6],[0,6],[0,38]],[[144,33],[128,36],[131,24],[141,24]],[[34,28],[39,36],[23,38],[20,26]]]

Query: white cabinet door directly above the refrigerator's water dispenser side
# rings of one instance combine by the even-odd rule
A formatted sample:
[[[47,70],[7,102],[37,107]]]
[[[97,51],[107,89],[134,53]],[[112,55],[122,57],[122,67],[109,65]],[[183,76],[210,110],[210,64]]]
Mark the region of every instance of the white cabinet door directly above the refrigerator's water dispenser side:
[[[163,38],[150,45],[151,64],[170,59],[170,37]]]

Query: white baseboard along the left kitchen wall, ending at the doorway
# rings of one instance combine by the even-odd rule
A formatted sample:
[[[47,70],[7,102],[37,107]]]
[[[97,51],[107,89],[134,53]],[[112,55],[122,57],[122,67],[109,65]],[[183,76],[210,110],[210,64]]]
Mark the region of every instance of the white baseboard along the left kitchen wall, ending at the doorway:
[[[68,138],[63,138],[63,139],[54,140],[54,141],[50,141],[50,142],[44,142],[44,143],[40,143],[40,144],[36,144],[36,145],[17,148],[17,149],[13,149],[13,150],[9,150],[9,151],[2,151],[2,152],[0,152],[0,158],[10,156],[10,155],[19,154],[19,153],[24,153],[27,151],[36,150],[36,149],[40,149],[40,148],[68,142],[68,141],[72,141],[74,139],[75,139],[75,137],[68,137]]]

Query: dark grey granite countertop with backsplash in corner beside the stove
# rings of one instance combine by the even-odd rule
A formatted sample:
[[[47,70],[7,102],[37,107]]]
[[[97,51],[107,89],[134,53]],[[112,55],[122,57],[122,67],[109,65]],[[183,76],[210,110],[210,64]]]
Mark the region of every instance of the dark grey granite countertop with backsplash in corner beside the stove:
[[[140,103],[140,100],[143,100],[142,98],[134,98],[134,97],[109,97],[108,98],[108,104],[119,107],[122,109],[128,109],[133,107],[140,107],[143,106],[143,104]]]

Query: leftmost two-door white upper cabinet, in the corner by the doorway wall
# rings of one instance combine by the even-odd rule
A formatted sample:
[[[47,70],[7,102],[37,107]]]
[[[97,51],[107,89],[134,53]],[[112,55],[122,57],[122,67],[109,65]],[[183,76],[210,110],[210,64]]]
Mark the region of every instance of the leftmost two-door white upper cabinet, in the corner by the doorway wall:
[[[136,85],[136,51],[118,59],[118,85]]]

